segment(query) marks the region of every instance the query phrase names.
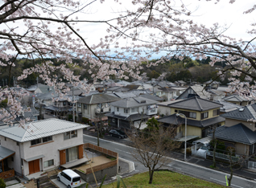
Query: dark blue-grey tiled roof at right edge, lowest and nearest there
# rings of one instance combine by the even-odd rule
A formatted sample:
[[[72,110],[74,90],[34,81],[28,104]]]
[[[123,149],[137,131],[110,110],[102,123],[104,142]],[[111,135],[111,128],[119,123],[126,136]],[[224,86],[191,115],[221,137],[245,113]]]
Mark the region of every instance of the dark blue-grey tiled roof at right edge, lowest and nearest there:
[[[215,136],[225,141],[234,141],[246,145],[256,143],[256,132],[253,132],[242,123],[231,127],[218,127],[216,129]]]

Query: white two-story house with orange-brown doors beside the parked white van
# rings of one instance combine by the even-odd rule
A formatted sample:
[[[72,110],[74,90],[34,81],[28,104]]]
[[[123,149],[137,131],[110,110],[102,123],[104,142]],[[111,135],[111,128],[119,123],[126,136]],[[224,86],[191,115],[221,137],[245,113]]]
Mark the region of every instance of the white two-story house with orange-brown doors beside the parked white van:
[[[16,174],[26,177],[70,161],[80,160],[76,165],[85,162],[83,129],[88,126],[47,119],[31,122],[24,127],[0,129],[4,169],[14,169]]]

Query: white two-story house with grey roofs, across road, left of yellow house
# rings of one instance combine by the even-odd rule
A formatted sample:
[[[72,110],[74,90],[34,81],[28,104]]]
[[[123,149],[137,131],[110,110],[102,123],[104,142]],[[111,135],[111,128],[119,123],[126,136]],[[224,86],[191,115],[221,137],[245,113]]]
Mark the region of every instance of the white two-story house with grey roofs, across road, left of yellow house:
[[[118,100],[111,105],[111,112],[106,113],[110,126],[122,129],[131,129],[132,126],[138,127],[142,122],[147,121],[157,113],[156,100],[143,98],[142,96],[131,97]],[[142,127],[141,127],[142,129]]]

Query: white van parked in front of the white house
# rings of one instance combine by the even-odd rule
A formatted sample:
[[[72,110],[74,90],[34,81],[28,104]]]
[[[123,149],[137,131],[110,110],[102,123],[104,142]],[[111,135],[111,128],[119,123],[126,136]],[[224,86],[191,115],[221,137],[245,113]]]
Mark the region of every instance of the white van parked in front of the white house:
[[[63,182],[68,188],[76,187],[81,185],[81,177],[76,174],[73,170],[63,170],[57,176],[58,181]]]

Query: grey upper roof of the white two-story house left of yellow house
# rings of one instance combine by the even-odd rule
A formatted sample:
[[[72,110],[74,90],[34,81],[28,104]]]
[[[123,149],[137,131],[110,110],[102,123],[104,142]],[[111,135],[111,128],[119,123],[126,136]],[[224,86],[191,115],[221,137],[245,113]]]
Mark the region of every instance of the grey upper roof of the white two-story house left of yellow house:
[[[121,108],[134,108],[138,106],[146,106],[151,104],[157,104],[157,101],[146,99],[146,98],[143,98],[142,96],[136,96],[132,98],[118,100],[111,103],[112,106],[121,107]]]

